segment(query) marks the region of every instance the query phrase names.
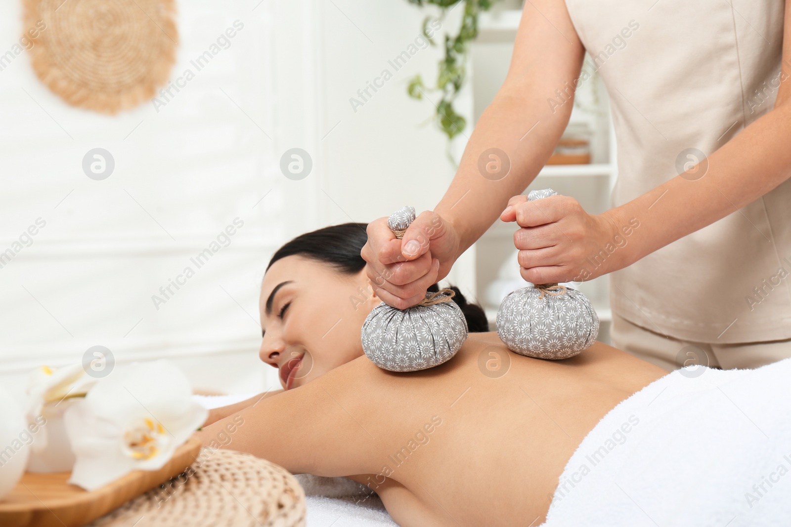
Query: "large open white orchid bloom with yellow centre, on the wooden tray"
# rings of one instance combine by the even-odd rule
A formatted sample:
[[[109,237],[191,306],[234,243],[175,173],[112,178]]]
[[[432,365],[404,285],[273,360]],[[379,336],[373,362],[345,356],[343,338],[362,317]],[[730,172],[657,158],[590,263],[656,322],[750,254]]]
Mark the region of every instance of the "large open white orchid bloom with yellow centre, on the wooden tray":
[[[113,372],[63,416],[77,457],[69,483],[93,491],[133,470],[161,469],[207,416],[168,359]]]

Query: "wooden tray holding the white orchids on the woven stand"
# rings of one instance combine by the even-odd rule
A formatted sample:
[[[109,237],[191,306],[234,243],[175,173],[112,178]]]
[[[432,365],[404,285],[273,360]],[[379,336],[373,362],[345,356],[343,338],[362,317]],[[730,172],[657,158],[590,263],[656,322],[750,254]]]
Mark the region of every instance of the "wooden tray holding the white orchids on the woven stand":
[[[136,470],[112,483],[85,491],[66,483],[71,472],[26,472],[0,500],[2,527],[79,527],[104,516],[143,492],[184,472],[198,457],[201,442],[191,438],[159,470]]]

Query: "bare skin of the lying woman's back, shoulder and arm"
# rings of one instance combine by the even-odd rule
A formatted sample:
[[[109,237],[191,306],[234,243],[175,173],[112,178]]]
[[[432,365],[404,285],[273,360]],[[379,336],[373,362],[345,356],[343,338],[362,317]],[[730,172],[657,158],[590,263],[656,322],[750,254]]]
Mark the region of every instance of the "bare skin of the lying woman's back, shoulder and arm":
[[[293,473],[367,484],[399,525],[539,525],[585,435],[666,374],[600,342],[547,361],[472,333],[441,366],[394,373],[361,356],[198,435],[211,446],[229,435],[223,447]]]

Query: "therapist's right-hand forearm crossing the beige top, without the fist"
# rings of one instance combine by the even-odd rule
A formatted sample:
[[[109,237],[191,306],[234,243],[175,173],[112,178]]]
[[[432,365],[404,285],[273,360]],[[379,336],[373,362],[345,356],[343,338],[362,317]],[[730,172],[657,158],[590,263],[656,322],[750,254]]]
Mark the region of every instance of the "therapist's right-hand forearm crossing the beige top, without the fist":
[[[640,228],[630,237],[630,250],[622,251],[625,260],[618,267],[713,224],[789,179],[789,143],[791,105],[784,101],[713,152],[700,179],[676,176],[607,211],[616,225],[626,225],[631,218],[640,221]]]

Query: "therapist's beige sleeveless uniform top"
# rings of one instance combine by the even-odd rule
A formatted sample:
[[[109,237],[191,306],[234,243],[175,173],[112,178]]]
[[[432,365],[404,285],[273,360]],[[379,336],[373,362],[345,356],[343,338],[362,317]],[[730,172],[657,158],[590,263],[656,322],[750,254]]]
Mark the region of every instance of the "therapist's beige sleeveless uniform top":
[[[708,156],[774,106],[783,4],[566,0],[611,100],[619,170],[611,206],[672,179],[685,170],[683,164],[694,164],[694,152],[684,150]],[[651,207],[661,209],[661,199]],[[652,212],[638,212],[636,219],[652,221]],[[610,302],[630,322],[684,340],[786,339],[791,337],[789,275],[791,181],[785,181],[611,273]]]

